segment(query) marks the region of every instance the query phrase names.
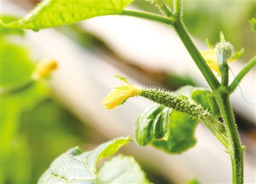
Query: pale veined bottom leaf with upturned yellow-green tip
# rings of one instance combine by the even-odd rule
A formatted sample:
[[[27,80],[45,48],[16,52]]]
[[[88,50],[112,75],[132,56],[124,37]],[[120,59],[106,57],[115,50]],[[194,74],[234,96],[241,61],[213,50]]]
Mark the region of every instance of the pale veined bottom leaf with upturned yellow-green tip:
[[[94,183],[99,159],[113,155],[129,141],[131,141],[129,136],[116,138],[85,153],[82,153],[78,147],[72,148],[52,162],[38,183]]]

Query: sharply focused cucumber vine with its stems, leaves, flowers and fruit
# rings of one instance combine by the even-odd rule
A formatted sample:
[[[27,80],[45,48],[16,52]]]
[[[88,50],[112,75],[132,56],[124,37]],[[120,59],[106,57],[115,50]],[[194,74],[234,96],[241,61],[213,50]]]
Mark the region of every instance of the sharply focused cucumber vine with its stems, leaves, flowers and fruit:
[[[114,91],[103,100],[104,107],[106,109],[113,109],[118,105],[124,104],[127,98],[132,96],[143,96],[156,102],[157,104],[147,107],[138,118],[136,122],[136,141],[141,146],[151,144],[168,153],[182,153],[195,145],[193,132],[198,121],[201,119],[211,130],[212,134],[214,134],[227,149],[226,151],[230,155],[232,162],[233,183],[243,183],[243,152],[245,147],[239,139],[229,96],[237,88],[239,82],[241,82],[246,73],[256,65],[256,57],[253,57],[236,76],[236,79],[228,85],[229,66],[227,63],[228,61],[232,61],[241,56],[243,50],[234,53],[232,44],[226,42],[221,33],[220,42],[217,43],[215,47],[212,47],[212,45],[207,42],[209,50],[200,53],[184,26],[181,1],[174,1],[172,9],[169,8],[165,1],[156,0],[150,2],[155,4],[157,8],[161,10],[163,15],[144,11],[124,10],[124,8],[132,3],[132,1],[102,1],[100,3],[99,1],[43,1],[23,19],[10,23],[4,23],[2,21],[1,24],[6,29],[33,29],[34,31],[39,31],[40,29],[79,22],[81,20],[102,15],[129,15],[173,26],[177,31],[177,34],[179,34],[180,40],[182,40],[189,54],[195,61],[196,66],[198,66],[200,72],[204,75],[211,91],[186,86],[178,91],[170,93],[161,89],[148,89],[132,86],[132,84],[129,84],[123,77],[116,76],[121,81],[126,82],[126,84],[115,88]],[[255,19],[252,19],[251,22],[255,29]],[[212,70],[216,70],[218,75],[221,75],[221,82],[218,81]],[[219,118],[222,118],[223,121],[220,121]],[[184,134],[184,130],[189,131],[186,131]],[[128,140],[129,137],[126,139]],[[77,150],[78,149],[76,148],[68,151],[66,155],[57,158],[51,165],[50,172],[46,171],[40,179],[40,182],[52,182],[51,177],[53,176],[57,176],[59,178],[58,180],[79,180],[88,181],[88,183],[109,183],[115,181],[113,180],[115,177],[103,181],[101,177],[104,177],[104,171],[100,170],[99,173],[97,173],[95,170],[97,160],[103,157],[100,155],[102,154],[101,152],[97,152],[97,157],[92,160],[94,165],[89,168],[89,170],[93,170],[90,174],[95,175],[92,178],[86,178],[86,175],[83,175],[86,174],[85,172],[82,174],[85,178],[81,180],[73,177],[73,175],[72,179],[66,178],[68,174],[62,176],[61,172],[57,171],[62,168],[62,166],[61,164],[56,164],[56,162],[58,160],[61,162],[63,157],[78,157],[75,155],[79,155],[81,151]],[[114,150],[116,151],[117,148]],[[101,151],[108,152],[109,149]],[[111,151],[110,149],[110,153],[104,155],[104,157],[108,157],[115,151]],[[87,152],[84,154],[86,155]],[[128,162],[136,165],[133,161],[128,161],[129,159],[126,159],[125,157],[124,159],[123,157],[118,157],[116,160],[115,163],[117,163],[117,165],[118,162],[122,162],[120,160],[125,160],[125,163]],[[85,162],[84,160],[82,161]],[[108,163],[111,163],[111,161]],[[90,165],[90,163],[88,165]],[[54,167],[54,169],[57,167],[57,170],[55,171],[52,167]],[[102,168],[104,168],[104,166]],[[76,174],[76,172],[77,171],[74,171],[74,174]],[[103,175],[100,175],[102,172]],[[115,171],[112,172],[115,173]],[[121,174],[120,176],[122,178],[123,175]],[[135,174],[135,176],[137,175]],[[144,177],[145,176],[142,174],[142,179],[136,181],[148,182]],[[125,181],[125,179],[122,179],[121,181]],[[118,180],[118,182],[120,181]]]

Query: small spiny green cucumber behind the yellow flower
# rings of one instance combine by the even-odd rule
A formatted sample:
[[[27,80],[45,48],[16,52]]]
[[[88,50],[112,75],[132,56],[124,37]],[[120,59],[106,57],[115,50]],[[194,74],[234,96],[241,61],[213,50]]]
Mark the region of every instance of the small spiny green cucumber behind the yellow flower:
[[[202,118],[202,116],[204,116],[205,119],[209,119],[211,117],[211,114],[205,111],[201,105],[194,104],[188,99],[183,99],[180,96],[161,91],[160,89],[143,89],[141,96],[148,98],[148,100],[156,102],[157,104],[186,113],[194,118]]]

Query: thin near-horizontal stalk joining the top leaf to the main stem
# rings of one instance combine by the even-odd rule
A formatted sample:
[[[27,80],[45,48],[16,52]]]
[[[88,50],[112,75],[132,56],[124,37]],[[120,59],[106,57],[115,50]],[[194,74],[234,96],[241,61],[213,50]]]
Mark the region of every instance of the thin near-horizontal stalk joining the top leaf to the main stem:
[[[175,22],[175,17],[163,17],[161,15],[156,15],[154,13],[148,13],[145,11],[124,10],[122,11],[121,15],[129,15],[133,17],[148,19],[148,20],[155,20],[157,22],[162,22],[168,25],[173,25],[173,22]]]

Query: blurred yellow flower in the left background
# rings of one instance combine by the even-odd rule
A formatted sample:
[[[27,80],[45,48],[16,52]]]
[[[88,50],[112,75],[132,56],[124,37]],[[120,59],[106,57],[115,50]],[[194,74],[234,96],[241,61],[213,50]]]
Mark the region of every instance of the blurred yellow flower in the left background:
[[[43,61],[40,61],[38,65],[36,65],[36,68],[32,73],[31,78],[35,81],[38,79],[47,78],[56,68],[58,68],[58,63],[56,62],[56,60],[45,59]]]

